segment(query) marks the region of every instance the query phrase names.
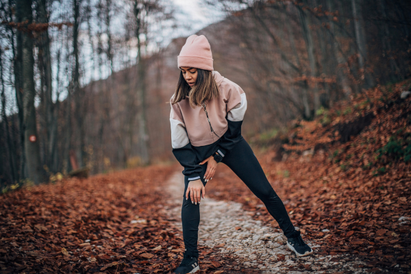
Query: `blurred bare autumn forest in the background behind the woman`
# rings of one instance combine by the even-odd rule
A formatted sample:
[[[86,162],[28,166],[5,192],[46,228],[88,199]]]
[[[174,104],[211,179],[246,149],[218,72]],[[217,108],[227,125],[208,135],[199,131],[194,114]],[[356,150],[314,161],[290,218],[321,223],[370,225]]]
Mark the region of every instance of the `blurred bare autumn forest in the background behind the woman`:
[[[406,1],[204,4],[226,13],[197,34],[210,41],[214,69],[247,93],[245,136],[410,77]],[[163,45],[173,7],[9,0],[0,16],[1,188],[173,159],[166,101],[186,40]]]

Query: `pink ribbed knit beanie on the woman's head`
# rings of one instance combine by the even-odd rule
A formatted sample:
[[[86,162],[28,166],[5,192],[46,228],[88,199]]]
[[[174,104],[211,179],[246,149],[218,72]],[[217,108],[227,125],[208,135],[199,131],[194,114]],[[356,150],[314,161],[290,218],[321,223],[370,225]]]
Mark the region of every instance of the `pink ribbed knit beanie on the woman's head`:
[[[178,67],[190,66],[190,68],[214,71],[212,66],[212,54],[210,43],[206,36],[193,34],[186,40],[177,56]]]

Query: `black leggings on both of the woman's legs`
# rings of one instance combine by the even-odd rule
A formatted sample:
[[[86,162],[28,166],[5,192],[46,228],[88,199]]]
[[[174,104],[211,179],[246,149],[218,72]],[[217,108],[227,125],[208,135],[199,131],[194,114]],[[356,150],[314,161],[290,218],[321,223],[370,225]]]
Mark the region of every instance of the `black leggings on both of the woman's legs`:
[[[241,140],[233,147],[233,149],[225,154],[222,161],[244,182],[248,188],[256,195],[266,206],[267,210],[277,221],[279,227],[283,230],[285,236],[290,236],[295,231],[294,226],[290,221],[290,217],[279,199],[277,193],[269,183],[256,155],[254,155],[247,141],[241,137]],[[207,164],[202,164],[201,182],[206,186],[203,179],[206,173]],[[191,202],[190,195],[186,200],[186,191],[188,187],[188,177],[184,176],[184,198],[182,205],[182,223],[183,223],[183,238],[186,252],[192,256],[199,256],[197,249],[197,240],[200,223],[200,208],[199,204]]]

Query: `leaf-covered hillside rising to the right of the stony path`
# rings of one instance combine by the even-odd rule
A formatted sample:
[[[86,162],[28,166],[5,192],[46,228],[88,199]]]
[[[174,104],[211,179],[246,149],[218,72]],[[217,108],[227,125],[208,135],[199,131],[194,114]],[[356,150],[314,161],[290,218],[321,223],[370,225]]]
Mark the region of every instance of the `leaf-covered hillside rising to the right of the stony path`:
[[[410,87],[407,80],[366,90],[314,121],[294,121],[256,153],[292,222],[321,245],[316,252],[351,253],[346,262],[365,260],[373,273],[409,271],[411,95],[401,93]],[[226,166],[209,188],[277,227]]]

